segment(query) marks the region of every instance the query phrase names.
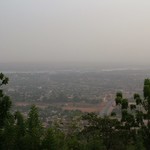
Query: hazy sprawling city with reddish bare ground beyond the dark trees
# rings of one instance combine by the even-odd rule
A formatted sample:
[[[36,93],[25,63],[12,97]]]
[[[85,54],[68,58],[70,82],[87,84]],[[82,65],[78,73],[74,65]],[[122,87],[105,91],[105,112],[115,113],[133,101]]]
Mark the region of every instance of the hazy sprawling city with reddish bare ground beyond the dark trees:
[[[6,93],[13,101],[13,111],[27,115],[36,104],[47,126],[50,122],[95,112],[102,116],[116,110],[115,94],[121,91],[132,101],[134,93],[142,94],[143,81],[149,70],[61,70],[51,72],[7,73]]]

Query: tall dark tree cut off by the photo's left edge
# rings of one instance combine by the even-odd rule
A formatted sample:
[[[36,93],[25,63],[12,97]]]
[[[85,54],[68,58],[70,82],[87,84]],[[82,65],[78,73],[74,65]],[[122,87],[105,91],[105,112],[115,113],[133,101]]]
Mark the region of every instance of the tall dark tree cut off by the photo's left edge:
[[[12,102],[4,94],[3,85],[8,83],[8,78],[0,73],[0,149],[13,149],[14,146],[14,117],[10,112]]]

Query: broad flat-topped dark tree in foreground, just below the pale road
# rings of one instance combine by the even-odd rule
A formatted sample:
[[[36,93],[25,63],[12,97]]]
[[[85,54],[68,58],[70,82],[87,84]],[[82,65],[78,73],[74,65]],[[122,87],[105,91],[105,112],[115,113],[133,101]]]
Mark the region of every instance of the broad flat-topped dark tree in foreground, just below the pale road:
[[[93,113],[85,115],[83,119],[88,121],[87,126],[82,131],[84,136],[87,137],[88,143],[92,138],[95,141],[101,141],[101,144],[99,143],[101,145],[100,149],[116,150],[118,140],[120,140],[120,136],[123,136],[118,132],[121,124],[117,119],[110,119],[109,117],[100,118]],[[119,143],[122,145],[122,148],[124,145],[123,142],[125,141],[127,140],[120,141]],[[126,145],[124,146],[126,147]]]

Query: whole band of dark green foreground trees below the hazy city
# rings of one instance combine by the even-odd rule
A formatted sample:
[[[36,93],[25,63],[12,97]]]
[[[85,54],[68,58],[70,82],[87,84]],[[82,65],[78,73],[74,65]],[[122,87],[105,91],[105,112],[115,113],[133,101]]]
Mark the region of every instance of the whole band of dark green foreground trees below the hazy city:
[[[121,92],[116,94],[120,107],[118,119],[99,117],[94,113],[82,116],[82,126],[44,128],[38,109],[33,105],[25,118],[12,114],[12,102],[2,86],[8,78],[0,74],[0,150],[149,150],[150,149],[150,80],[144,82],[144,98],[134,94],[135,104],[128,103]],[[76,122],[77,123],[77,122]]]

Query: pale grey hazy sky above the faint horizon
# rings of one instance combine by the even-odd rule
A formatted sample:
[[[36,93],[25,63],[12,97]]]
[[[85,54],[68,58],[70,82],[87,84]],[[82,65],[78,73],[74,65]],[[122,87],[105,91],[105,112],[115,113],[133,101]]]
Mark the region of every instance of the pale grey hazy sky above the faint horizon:
[[[150,0],[0,0],[0,62],[150,63]]]

